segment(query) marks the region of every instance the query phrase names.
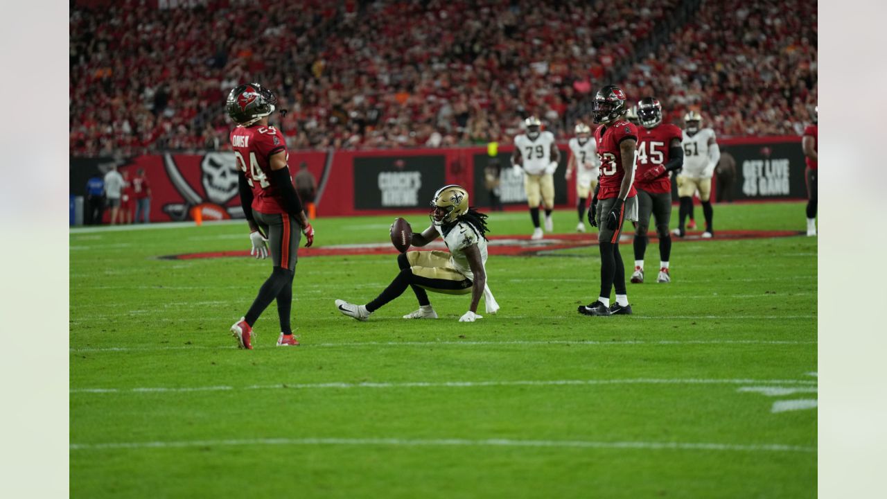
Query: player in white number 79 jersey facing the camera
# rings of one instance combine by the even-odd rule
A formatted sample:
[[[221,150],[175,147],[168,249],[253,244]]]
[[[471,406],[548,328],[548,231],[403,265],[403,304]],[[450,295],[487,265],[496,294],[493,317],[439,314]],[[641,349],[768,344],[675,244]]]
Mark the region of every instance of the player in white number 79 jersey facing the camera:
[[[536,116],[523,121],[526,133],[514,137],[514,153],[511,164],[515,171],[523,170],[523,188],[527,191],[527,204],[533,220],[531,239],[542,239],[539,227],[539,203],[546,209],[546,231],[554,230],[552,210],[554,210],[554,171],[557,170],[561,153],[554,143],[554,134],[541,131],[542,122]]]

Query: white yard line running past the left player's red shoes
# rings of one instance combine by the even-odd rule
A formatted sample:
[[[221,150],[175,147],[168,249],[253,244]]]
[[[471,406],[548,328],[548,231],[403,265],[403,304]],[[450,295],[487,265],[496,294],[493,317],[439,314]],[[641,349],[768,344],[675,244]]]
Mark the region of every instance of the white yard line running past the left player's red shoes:
[[[296,337],[300,337],[296,335]],[[514,341],[364,341],[349,343],[318,343],[302,344],[300,348],[351,348],[365,346],[474,346],[474,345],[590,345],[590,346],[625,346],[625,345],[817,345],[816,341],[781,341],[781,340],[514,340]],[[237,350],[234,345],[181,345],[181,346],[108,346],[70,348],[71,353],[79,352],[154,352],[163,350]]]

